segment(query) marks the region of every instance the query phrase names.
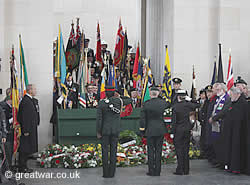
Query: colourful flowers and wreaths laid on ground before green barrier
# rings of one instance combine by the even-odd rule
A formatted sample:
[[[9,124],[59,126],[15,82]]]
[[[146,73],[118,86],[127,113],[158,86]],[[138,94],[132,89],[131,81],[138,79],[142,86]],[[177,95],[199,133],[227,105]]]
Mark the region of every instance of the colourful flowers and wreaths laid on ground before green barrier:
[[[121,134],[119,139],[135,140],[117,146],[117,166],[136,166],[147,163],[147,145],[142,138],[131,131]],[[144,139],[143,139],[144,140]],[[131,144],[130,144],[131,143]],[[175,152],[172,143],[164,139],[162,147],[162,162],[175,162]],[[38,161],[43,168],[93,168],[102,166],[101,144],[48,145],[39,153]]]

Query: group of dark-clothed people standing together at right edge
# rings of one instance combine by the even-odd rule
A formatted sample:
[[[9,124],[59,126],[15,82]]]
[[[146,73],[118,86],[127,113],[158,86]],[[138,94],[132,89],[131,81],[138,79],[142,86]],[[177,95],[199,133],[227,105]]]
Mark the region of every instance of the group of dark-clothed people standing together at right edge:
[[[202,155],[213,167],[250,174],[250,103],[247,83],[238,77],[227,90],[224,83],[200,92],[199,121]]]

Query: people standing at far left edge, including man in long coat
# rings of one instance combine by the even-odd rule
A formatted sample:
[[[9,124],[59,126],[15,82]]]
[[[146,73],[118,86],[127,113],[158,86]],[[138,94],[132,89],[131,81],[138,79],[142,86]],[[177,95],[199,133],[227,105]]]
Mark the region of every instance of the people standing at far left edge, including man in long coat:
[[[0,102],[1,173],[3,174],[6,171],[33,172],[28,167],[27,161],[32,154],[38,152],[37,128],[40,124],[40,110],[35,96],[36,86],[29,84],[27,92],[19,104],[16,117],[13,115],[16,112],[12,105],[11,88],[6,90],[6,97]],[[14,120],[20,126],[16,125]],[[16,156],[18,158],[15,158]],[[14,158],[15,160],[13,160]],[[1,175],[2,183],[3,178],[4,176]]]

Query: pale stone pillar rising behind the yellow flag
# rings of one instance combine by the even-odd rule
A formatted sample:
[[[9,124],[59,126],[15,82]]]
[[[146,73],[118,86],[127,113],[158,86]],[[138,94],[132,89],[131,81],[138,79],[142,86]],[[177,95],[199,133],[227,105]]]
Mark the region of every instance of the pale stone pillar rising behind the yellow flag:
[[[146,55],[151,59],[156,83],[162,83],[165,45],[173,56],[173,0],[147,0]]]

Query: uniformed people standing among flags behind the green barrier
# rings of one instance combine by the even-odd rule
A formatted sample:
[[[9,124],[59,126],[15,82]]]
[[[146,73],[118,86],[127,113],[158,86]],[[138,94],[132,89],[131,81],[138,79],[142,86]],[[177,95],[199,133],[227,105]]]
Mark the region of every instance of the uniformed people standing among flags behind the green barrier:
[[[108,45],[105,41],[101,43],[101,56],[102,62],[96,61],[96,57],[94,54],[93,49],[88,48],[90,39],[84,39],[84,47],[87,48],[87,66],[88,66],[88,82],[85,86],[85,99],[86,99],[86,108],[96,108],[98,102],[100,100],[100,88],[101,88],[101,81],[102,75],[105,74],[105,84],[108,84],[110,71],[114,67],[115,73],[115,83],[116,83],[116,90],[119,94],[124,94],[124,90],[128,91],[130,94],[132,91],[135,91],[133,88],[133,68],[134,68],[134,61],[136,52],[132,46],[128,45],[127,49],[127,56],[126,58],[126,66],[122,66],[122,64],[113,66],[113,58],[111,52],[108,50]],[[55,52],[55,51],[54,51]],[[143,65],[141,63],[141,65]],[[102,74],[102,72],[104,72]],[[79,108],[79,100],[78,100],[78,93],[79,90],[79,81],[78,81],[78,67],[74,69],[67,69],[67,76],[65,80],[65,86],[67,87],[68,94],[66,100],[66,106],[63,106],[62,101],[57,101],[61,95],[59,92],[59,88],[56,81],[54,81],[54,104],[56,103],[59,108],[66,108],[66,109],[75,109]],[[139,89],[137,89],[139,90]],[[138,91],[137,96],[140,95],[140,91]],[[135,94],[135,92],[134,92]],[[130,94],[131,95],[131,94]],[[138,105],[136,105],[138,106]]]

